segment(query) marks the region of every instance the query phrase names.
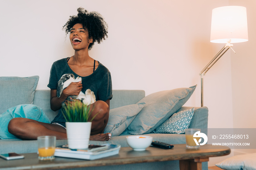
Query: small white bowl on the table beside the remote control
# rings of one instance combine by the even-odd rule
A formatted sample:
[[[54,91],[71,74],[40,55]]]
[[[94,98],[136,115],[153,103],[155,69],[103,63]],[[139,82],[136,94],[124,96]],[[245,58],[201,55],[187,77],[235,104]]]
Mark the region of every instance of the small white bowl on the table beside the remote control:
[[[133,150],[142,151],[146,150],[146,148],[151,145],[152,137],[143,135],[128,136],[126,137],[126,141]]]

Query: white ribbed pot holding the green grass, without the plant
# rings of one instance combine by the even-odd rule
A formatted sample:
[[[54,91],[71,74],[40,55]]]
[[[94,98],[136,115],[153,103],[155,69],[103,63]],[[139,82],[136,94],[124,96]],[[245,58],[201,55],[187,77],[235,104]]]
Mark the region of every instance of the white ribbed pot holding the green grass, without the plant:
[[[87,149],[91,134],[91,122],[66,122],[68,147]]]

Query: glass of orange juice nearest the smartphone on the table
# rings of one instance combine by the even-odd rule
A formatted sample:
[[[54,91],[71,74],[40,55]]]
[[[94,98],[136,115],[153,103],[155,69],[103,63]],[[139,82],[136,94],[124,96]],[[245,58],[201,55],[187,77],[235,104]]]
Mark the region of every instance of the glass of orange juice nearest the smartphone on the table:
[[[56,137],[55,136],[37,137],[37,142],[38,142],[38,159],[39,160],[54,159]]]

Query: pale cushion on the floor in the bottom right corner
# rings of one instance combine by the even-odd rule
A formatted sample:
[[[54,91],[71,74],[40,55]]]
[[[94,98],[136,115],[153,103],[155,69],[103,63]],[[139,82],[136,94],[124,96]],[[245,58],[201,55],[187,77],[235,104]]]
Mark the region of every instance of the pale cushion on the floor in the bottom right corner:
[[[221,169],[226,170],[256,170],[256,153],[236,155],[225,159],[217,164]]]

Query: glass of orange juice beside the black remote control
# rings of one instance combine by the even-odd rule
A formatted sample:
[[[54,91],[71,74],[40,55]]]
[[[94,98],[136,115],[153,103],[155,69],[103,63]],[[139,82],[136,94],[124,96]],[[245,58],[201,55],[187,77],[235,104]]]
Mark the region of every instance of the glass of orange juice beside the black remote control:
[[[187,149],[198,149],[200,147],[200,145],[199,145],[200,137],[196,137],[196,135],[194,135],[198,131],[200,133],[201,130],[200,129],[186,129],[185,130],[186,148]],[[195,140],[197,141],[197,143],[195,142]]]

